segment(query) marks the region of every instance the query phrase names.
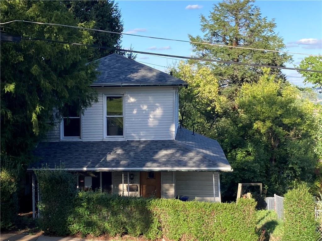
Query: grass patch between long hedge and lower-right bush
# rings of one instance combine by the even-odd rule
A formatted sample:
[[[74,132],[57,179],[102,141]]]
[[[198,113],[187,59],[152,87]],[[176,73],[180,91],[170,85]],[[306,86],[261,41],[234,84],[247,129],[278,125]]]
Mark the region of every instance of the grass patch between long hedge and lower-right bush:
[[[283,230],[283,221],[277,218],[277,214],[271,210],[258,210],[257,225],[259,235],[265,230],[263,240],[279,240]]]

